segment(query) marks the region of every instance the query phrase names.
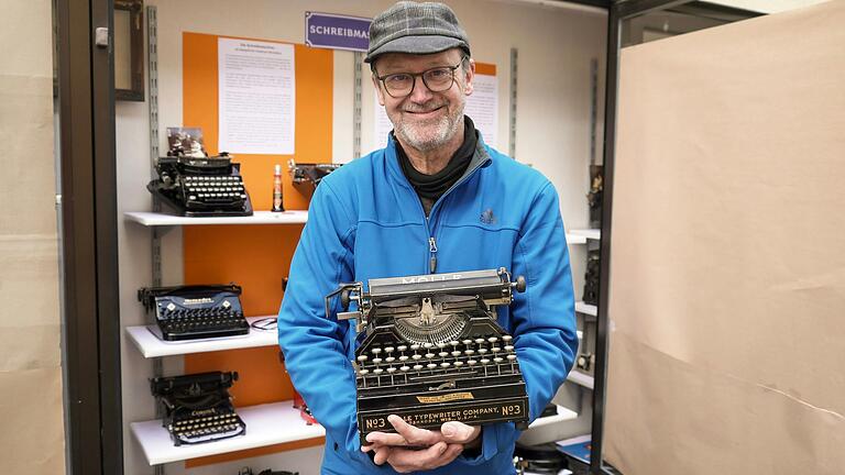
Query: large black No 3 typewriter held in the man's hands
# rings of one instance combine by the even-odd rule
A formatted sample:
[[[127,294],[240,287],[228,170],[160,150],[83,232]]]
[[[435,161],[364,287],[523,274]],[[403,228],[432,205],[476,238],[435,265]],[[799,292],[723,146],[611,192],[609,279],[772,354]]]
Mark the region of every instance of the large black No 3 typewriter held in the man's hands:
[[[326,313],[339,295],[356,319],[359,346],[352,365],[362,443],[373,431],[393,431],[396,415],[421,428],[450,420],[468,424],[528,422],[528,397],[512,335],[496,322],[525,279],[504,269],[431,274],[342,284],[326,297]]]

